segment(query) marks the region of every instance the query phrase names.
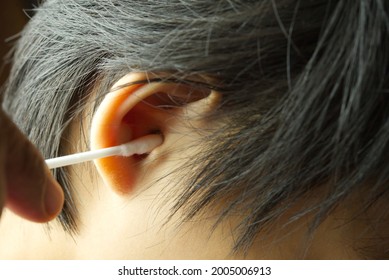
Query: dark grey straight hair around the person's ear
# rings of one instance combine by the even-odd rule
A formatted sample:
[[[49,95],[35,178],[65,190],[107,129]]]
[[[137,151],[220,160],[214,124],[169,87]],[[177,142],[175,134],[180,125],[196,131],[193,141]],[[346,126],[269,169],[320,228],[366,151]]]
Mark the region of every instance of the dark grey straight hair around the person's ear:
[[[224,125],[188,161],[197,171],[172,212],[190,219],[224,197],[218,221],[245,213],[233,248],[244,250],[323,185],[291,222],[313,214],[314,230],[366,186],[361,212],[389,201],[388,11],[384,0],[48,0],[17,43],[4,106],[55,157],[92,87],[103,96],[131,71],[215,78],[209,117]],[[60,220],[76,230],[71,182],[55,176]]]

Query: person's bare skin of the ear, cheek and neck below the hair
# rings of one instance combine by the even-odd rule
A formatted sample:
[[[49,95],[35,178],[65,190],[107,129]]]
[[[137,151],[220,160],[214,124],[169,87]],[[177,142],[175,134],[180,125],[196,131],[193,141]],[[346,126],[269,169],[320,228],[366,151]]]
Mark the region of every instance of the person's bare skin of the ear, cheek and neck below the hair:
[[[141,77],[138,74],[131,74],[118,81],[117,85],[139,78]],[[67,147],[68,153],[88,149],[84,142],[80,141],[82,135],[93,139],[92,148],[99,148],[108,142],[125,142],[136,135],[150,133],[150,130],[134,132],[137,122],[143,122],[141,127],[157,128],[161,131],[164,136],[162,145],[143,158],[130,158],[128,161],[111,158],[108,161],[99,160],[69,168],[70,178],[77,191],[75,203],[79,210],[79,228],[73,236],[64,232],[58,221],[41,225],[5,211],[0,226],[0,258],[359,258],[352,244],[363,224],[347,222],[352,215],[348,207],[334,211],[310,238],[306,235],[309,217],[286,225],[290,217],[287,213],[267,231],[259,234],[246,254],[231,251],[234,244],[233,229],[243,215],[241,213],[231,216],[216,228],[213,228],[216,220],[215,209],[204,211],[202,215],[178,226],[182,215],[179,211],[166,222],[178,193],[176,188],[180,185],[180,173],[167,175],[170,171],[180,168],[188,157],[195,157],[198,153],[197,143],[206,133],[204,131],[212,131],[217,127],[216,122],[205,122],[198,116],[217,106],[219,99],[217,94],[211,93],[185,108],[173,109],[172,114],[171,110],[146,108],[144,103],[140,102],[147,100],[156,105],[159,101],[152,99],[153,93],[158,89],[169,90],[168,87],[157,85],[157,90],[151,88],[151,92],[146,90],[140,93],[137,89],[130,87],[113,92],[103,101],[98,114],[92,119],[86,110],[82,123],[92,123],[94,128],[90,132],[88,125],[81,127],[79,121],[73,123],[68,131],[67,142],[80,145]],[[134,94],[138,94],[138,101],[131,97]],[[124,95],[126,98],[122,98]],[[118,110],[118,107],[123,106],[124,113]],[[128,117],[129,115],[132,117]],[[123,132],[131,127],[134,128],[131,133]],[[130,171],[119,174],[122,175],[122,180],[112,181],[110,174],[117,172],[123,165]],[[296,203],[296,207],[303,207],[305,201],[302,199]],[[347,203],[345,205],[347,206]]]

